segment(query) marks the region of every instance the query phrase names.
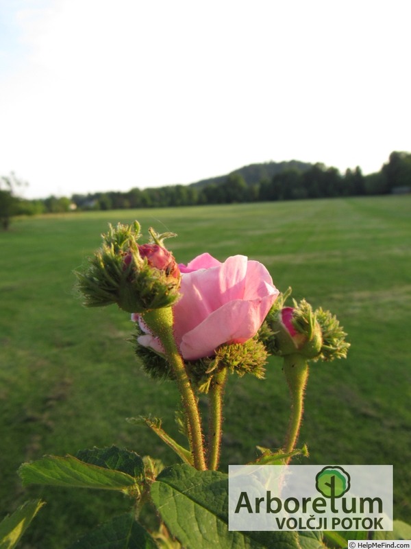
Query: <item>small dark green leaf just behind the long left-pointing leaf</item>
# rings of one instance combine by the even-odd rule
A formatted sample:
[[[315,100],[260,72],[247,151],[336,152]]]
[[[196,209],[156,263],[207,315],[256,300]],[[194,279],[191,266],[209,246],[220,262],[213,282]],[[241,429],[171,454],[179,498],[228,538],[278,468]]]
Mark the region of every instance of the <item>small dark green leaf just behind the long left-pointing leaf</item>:
[[[129,450],[120,449],[116,446],[80,450],[77,452],[76,457],[84,463],[114,471],[122,471],[129,476],[137,478],[144,476],[142,458],[136,452],[129,452]]]

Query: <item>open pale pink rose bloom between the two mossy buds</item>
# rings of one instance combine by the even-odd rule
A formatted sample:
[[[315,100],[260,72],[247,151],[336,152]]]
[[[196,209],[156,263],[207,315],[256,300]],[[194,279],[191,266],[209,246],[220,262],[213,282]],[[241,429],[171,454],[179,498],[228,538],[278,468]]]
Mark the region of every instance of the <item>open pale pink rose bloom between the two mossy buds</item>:
[[[212,356],[222,344],[253,338],[279,294],[264,265],[244,255],[221,263],[204,253],[179,270],[182,297],[173,306],[174,335],[186,360]],[[138,342],[158,351],[158,340],[140,326],[146,333]]]

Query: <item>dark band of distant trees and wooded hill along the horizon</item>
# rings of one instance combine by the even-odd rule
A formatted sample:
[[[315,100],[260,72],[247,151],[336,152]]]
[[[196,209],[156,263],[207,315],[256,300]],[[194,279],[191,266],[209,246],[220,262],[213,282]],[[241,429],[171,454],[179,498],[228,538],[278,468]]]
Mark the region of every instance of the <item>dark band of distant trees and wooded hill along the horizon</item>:
[[[63,213],[71,209],[179,207],[410,192],[411,153],[392,152],[379,172],[366,176],[360,167],[340,174],[335,167],[321,163],[290,161],[253,164],[227,176],[192,185],[136,187],[127,192],[73,194],[71,198],[50,196],[43,200],[23,200],[16,196],[17,185],[14,174],[0,178],[0,223],[5,229],[12,215]]]

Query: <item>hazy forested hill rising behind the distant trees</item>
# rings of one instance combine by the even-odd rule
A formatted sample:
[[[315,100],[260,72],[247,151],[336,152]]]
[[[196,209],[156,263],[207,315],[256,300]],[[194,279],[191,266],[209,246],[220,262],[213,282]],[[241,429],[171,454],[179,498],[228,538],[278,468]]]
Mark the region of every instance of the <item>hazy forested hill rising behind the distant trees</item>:
[[[201,188],[207,187],[207,185],[223,185],[227,181],[227,177],[232,174],[240,175],[247,185],[256,185],[261,183],[261,181],[271,180],[275,174],[284,172],[284,170],[299,170],[299,172],[306,172],[307,170],[310,170],[310,167],[312,167],[312,164],[299,160],[249,164],[223,176],[210,177],[208,179],[201,179],[196,183],[190,183],[190,187]]]

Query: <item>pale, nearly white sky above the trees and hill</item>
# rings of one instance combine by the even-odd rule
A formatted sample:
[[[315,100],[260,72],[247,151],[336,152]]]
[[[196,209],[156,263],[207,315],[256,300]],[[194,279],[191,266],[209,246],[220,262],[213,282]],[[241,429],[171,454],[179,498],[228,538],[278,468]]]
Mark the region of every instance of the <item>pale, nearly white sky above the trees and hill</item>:
[[[0,0],[0,175],[25,198],[411,150],[410,0]]]

